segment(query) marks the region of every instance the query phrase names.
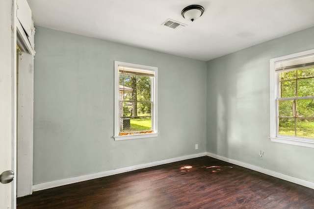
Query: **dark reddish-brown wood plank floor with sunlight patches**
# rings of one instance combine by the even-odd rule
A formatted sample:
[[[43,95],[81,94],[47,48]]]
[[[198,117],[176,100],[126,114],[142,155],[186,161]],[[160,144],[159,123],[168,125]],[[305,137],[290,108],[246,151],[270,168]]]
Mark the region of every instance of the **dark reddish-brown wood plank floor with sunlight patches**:
[[[310,209],[314,189],[210,157],[34,192],[17,209]]]

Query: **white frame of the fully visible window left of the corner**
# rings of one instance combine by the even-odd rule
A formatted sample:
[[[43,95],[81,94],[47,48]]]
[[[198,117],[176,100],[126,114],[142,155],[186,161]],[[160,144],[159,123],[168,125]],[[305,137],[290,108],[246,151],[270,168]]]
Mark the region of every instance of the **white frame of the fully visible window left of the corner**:
[[[152,129],[153,133],[148,134],[132,134],[119,136],[120,133],[120,122],[119,122],[119,66],[136,68],[141,70],[154,71],[154,82],[152,83]],[[133,63],[126,63],[120,61],[114,61],[114,136],[115,140],[126,140],[126,139],[140,139],[140,138],[151,138],[158,136],[158,68],[152,66],[138,65]]]

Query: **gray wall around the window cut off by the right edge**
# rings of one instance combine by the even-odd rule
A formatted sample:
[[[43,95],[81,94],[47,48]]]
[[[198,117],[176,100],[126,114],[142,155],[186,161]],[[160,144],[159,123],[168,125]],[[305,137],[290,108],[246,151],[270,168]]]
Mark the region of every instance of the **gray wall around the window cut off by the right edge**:
[[[314,27],[207,62],[208,152],[314,182],[313,148],[267,138],[269,60],[313,49],[313,37]]]

